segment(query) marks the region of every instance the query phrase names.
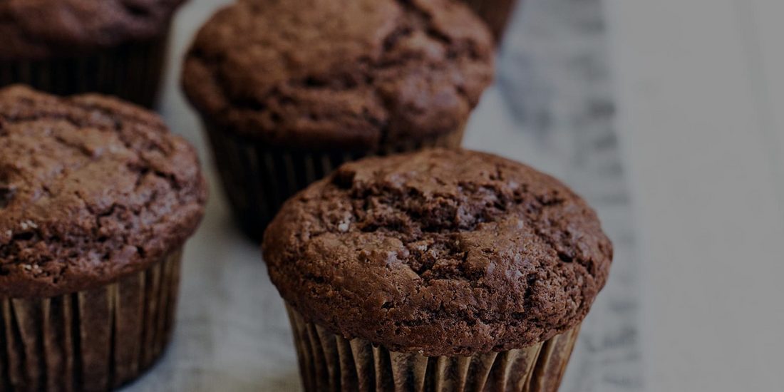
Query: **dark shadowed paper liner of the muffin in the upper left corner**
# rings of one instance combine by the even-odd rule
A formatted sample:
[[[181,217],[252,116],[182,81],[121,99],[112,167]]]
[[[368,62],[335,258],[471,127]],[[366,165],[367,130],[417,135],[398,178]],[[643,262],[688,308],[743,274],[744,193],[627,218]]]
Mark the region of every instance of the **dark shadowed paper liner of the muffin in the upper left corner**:
[[[72,57],[0,59],[0,87],[22,83],[60,96],[101,93],[152,107],[158,95],[169,32]]]

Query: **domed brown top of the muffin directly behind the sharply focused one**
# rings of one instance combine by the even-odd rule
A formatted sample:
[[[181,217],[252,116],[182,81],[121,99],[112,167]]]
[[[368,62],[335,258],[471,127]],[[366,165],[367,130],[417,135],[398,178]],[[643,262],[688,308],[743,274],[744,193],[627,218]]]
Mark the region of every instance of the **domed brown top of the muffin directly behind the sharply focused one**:
[[[226,132],[366,150],[459,129],[492,82],[492,52],[454,0],[241,0],[199,32],[183,89]]]

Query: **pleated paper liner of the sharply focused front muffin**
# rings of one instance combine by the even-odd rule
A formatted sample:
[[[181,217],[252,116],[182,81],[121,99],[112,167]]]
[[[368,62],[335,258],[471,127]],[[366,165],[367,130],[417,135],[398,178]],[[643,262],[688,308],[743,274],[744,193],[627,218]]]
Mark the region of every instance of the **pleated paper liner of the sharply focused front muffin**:
[[[579,335],[577,326],[520,350],[429,358],[345,339],[288,309],[307,392],[556,392]]]

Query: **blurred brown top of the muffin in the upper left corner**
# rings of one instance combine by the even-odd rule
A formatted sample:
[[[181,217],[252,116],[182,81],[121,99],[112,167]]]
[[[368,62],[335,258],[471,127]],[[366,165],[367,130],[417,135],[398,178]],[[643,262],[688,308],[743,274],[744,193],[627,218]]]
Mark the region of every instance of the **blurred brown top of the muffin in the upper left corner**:
[[[0,59],[68,56],[165,32],[185,0],[2,0]]]

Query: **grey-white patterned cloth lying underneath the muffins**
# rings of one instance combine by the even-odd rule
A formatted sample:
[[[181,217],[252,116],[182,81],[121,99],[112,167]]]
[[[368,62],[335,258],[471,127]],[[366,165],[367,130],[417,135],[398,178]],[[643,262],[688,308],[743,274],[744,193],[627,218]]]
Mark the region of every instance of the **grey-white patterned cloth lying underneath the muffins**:
[[[180,58],[221,3],[226,1],[195,0],[176,19],[161,111],[174,132],[199,147],[212,198],[187,247],[172,347],[128,392],[300,390],[281,299],[259,250],[230,221],[200,125],[179,89]],[[636,237],[612,125],[601,2],[529,0],[519,11],[499,58],[498,81],[477,108],[465,145],[549,172],[597,209],[615,242],[615,263],[584,323],[562,390],[641,390]]]

